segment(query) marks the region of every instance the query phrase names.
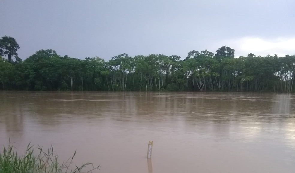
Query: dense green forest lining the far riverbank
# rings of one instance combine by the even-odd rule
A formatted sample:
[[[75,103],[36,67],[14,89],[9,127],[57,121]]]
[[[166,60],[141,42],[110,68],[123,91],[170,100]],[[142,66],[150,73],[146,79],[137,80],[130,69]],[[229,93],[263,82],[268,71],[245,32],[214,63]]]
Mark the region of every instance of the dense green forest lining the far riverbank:
[[[292,92],[294,87],[295,55],[235,58],[234,49],[222,46],[215,54],[193,50],[184,59],[122,53],[106,62],[60,56],[49,49],[22,61],[18,49],[14,38],[0,39],[2,90]]]

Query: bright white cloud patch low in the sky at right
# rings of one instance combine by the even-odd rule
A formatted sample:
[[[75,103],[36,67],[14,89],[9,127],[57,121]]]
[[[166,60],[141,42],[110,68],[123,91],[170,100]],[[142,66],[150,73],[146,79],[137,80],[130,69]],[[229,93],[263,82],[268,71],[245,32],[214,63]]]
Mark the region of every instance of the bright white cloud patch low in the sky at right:
[[[254,53],[256,56],[277,54],[278,56],[295,55],[295,37],[263,39],[259,37],[243,37],[228,40],[223,45],[235,49],[236,56],[246,56]]]

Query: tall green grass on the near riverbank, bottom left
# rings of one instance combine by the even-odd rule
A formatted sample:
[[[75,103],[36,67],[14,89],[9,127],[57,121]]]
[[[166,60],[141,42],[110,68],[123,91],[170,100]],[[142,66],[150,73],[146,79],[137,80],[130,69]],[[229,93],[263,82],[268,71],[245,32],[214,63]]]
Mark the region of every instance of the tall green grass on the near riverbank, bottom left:
[[[3,146],[3,151],[0,152],[0,173],[85,173],[99,169],[99,166],[94,167],[92,163],[79,167],[73,165],[75,155],[76,151],[66,162],[59,163],[53,146],[44,151],[42,147],[33,148],[29,143],[23,155],[19,155],[12,145]]]

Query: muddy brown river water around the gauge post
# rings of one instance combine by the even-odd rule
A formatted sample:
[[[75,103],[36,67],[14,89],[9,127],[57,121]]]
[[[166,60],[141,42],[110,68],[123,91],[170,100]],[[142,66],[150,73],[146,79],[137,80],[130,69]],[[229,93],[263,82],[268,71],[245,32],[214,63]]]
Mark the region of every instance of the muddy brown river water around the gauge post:
[[[101,173],[294,173],[295,95],[0,92],[0,145]],[[146,159],[153,140],[152,158]]]

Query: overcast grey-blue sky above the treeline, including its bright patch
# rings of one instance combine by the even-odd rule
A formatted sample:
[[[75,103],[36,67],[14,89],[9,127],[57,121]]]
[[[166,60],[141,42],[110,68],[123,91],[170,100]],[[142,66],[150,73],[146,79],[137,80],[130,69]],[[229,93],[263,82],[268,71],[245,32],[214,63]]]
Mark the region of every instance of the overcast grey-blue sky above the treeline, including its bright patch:
[[[0,36],[22,59],[40,49],[109,60],[223,45],[236,56],[295,54],[294,0],[1,0]]]

